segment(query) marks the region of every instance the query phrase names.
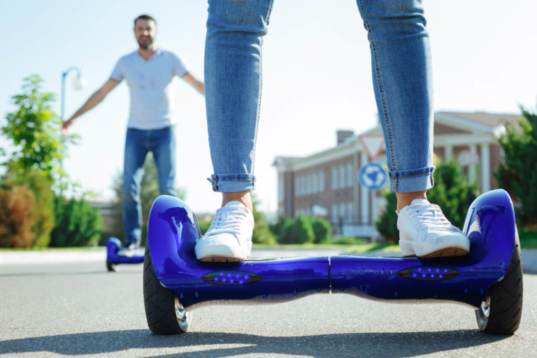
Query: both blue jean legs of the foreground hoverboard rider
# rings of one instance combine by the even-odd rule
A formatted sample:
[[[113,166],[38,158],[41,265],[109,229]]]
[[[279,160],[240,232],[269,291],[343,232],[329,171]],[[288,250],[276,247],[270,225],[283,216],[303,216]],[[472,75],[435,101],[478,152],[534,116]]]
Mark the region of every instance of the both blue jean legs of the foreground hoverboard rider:
[[[262,44],[273,0],[209,0],[205,93],[217,192],[255,188]],[[357,0],[368,32],[373,87],[392,192],[433,185],[433,81],[420,0]],[[282,83],[282,86],[285,86]]]

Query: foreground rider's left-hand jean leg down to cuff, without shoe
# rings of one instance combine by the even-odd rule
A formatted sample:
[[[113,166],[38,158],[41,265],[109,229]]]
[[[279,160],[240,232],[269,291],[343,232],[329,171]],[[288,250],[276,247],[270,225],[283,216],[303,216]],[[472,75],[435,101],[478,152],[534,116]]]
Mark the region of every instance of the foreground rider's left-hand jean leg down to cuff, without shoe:
[[[272,0],[209,1],[205,90],[215,192],[255,188],[262,43]]]

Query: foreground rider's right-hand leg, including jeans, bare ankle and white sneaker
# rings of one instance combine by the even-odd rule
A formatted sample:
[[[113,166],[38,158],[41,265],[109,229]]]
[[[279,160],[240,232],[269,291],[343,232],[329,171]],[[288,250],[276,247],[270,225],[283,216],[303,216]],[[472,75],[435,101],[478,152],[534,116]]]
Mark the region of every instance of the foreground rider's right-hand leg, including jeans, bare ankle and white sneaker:
[[[403,255],[466,255],[470,241],[427,201],[433,186],[433,85],[420,0],[357,0],[368,31],[373,87],[397,195]]]

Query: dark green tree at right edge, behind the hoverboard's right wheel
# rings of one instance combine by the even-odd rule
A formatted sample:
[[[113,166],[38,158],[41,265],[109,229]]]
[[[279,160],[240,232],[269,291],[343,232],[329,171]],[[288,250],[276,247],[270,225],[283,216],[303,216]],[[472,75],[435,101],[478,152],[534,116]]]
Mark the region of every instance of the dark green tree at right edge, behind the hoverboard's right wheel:
[[[499,187],[506,189],[514,201],[517,220],[528,229],[537,229],[537,114],[522,110],[520,131],[507,126],[506,135],[499,139],[505,152],[503,163],[495,173]]]

